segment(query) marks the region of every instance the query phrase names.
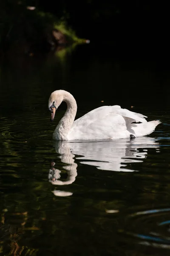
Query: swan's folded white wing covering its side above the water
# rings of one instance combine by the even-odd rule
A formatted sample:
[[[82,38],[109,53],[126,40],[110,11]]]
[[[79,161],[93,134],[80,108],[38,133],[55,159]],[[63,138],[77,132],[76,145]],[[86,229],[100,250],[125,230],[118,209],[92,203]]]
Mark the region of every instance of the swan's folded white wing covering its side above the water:
[[[69,140],[96,140],[128,137],[127,124],[147,122],[143,115],[122,109],[120,106],[103,106],[74,121]]]

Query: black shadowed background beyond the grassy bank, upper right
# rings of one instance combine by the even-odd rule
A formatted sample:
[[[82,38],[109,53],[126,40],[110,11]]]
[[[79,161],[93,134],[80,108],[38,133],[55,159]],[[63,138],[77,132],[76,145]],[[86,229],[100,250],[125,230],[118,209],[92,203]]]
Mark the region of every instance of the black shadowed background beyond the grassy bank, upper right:
[[[166,2],[122,0],[39,1],[37,6],[65,16],[77,35],[98,46],[114,44],[119,54],[169,54],[169,8]]]

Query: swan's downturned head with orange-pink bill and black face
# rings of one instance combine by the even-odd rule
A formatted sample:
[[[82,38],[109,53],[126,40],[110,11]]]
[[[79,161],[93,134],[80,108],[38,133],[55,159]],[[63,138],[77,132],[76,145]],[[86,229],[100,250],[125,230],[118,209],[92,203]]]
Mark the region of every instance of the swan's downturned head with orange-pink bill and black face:
[[[51,111],[51,121],[54,120],[54,116],[57,108],[63,101],[63,90],[56,90],[51,93],[50,98],[48,100],[48,109]]]

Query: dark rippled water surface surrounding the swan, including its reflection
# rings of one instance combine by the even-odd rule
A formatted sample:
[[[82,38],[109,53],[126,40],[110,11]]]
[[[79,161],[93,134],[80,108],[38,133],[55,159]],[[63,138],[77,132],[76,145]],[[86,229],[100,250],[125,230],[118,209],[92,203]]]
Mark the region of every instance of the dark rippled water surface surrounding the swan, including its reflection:
[[[169,69],[86,47],[1,64],[1,255],[170,253]],[[57,89],[73,93],[77,117],[133,105],[162,124],[133,141],[54,142]]]

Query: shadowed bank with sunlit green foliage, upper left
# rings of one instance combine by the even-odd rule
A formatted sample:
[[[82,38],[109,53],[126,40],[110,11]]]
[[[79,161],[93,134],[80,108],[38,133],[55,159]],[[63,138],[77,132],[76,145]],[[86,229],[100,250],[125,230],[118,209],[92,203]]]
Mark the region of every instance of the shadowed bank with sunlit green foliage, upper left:
[[[75,32],[67,28],[63,20],[50,13],[28,10],[25,1],[2,1],[0,3],[0,47],[11,45],[37,44],[48,41],[52,29],[59,29],[69,39],[69,43],[79,41]]]

